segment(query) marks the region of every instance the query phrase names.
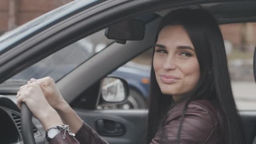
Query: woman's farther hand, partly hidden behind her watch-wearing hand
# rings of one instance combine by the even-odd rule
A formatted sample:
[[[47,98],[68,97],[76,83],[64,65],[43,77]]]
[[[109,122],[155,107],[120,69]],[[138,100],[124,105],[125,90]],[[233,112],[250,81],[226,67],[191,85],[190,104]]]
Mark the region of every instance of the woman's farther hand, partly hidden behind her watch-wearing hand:
[[[67,105],[66,101],[63,99],[61,93],[57,89],[54,80],[51,77],[44,77],[38,80],[32,78],[28,82],[28,84],[35,81],[40,84],[46,100],[51,105],[51,107],[53,107],[53,109],[56,109],[58,111],[60,109],[63,109],[63,106]]]

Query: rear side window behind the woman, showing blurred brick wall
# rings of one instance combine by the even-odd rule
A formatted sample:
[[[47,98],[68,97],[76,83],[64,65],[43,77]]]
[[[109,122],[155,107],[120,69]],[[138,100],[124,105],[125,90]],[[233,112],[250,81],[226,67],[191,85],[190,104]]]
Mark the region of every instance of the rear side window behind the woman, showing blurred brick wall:
[[[237,108],[255,110],[256,84],[253,77],[253,51],[256,46],[256,23],[223,24],[220,28]]]

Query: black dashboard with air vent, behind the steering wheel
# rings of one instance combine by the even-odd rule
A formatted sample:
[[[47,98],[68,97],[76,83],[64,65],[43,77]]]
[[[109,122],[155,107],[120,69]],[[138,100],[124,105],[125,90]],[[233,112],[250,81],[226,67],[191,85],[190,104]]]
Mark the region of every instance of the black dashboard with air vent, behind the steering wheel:
[[[20,110],[9,96],[0,95],[0,117],[0,144],[22,144]],[[42,131],[34,123],[33,132],[36,141],[43,142]]]

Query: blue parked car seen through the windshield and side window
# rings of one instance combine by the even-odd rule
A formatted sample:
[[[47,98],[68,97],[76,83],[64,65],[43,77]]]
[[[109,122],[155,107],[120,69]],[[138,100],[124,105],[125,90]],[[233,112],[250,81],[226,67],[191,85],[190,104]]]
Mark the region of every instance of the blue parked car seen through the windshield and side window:
[[[104,31],[102,31],[104,32]],[[72,69],[79,66],[81,57],[88,59],[97,54],[97,52],[104,49],[107,44],[115,43],[110,41],[101,32],[86,37],[82,40],[69,45],[67,48],[53,53],[45,59],[37,62],[31,67],[25,69],[13,77],[13,80],[29,80],[30,78],[40,79],[42,77],[50,76],[55,81],[60,80],[61,77],[67,75]],[[94,44],[98,39],[104,39],[106,44]],[[119,108],[119,109],[143,109],[147,108],[147,98],[149,96],[149,74],[150,67],[143,64],[137,64],[132,61],[119,67],[109,75],[121,77],[128,82],[130,87],[130,96],[125,104],[117,104],[115,106],[99,106],[102,108]]]

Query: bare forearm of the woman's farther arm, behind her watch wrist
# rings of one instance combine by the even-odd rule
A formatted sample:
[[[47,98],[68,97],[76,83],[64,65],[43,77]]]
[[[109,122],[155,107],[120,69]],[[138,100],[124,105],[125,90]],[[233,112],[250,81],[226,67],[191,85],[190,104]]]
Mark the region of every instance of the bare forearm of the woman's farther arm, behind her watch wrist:
[[[71,131],[73,133],[77,133],[77,131],[83,125],[83,120],[77,115],[77,113],[67,104],[66,101],[56,107],[56,111],[60,115],[63,123],[69,125]]]

